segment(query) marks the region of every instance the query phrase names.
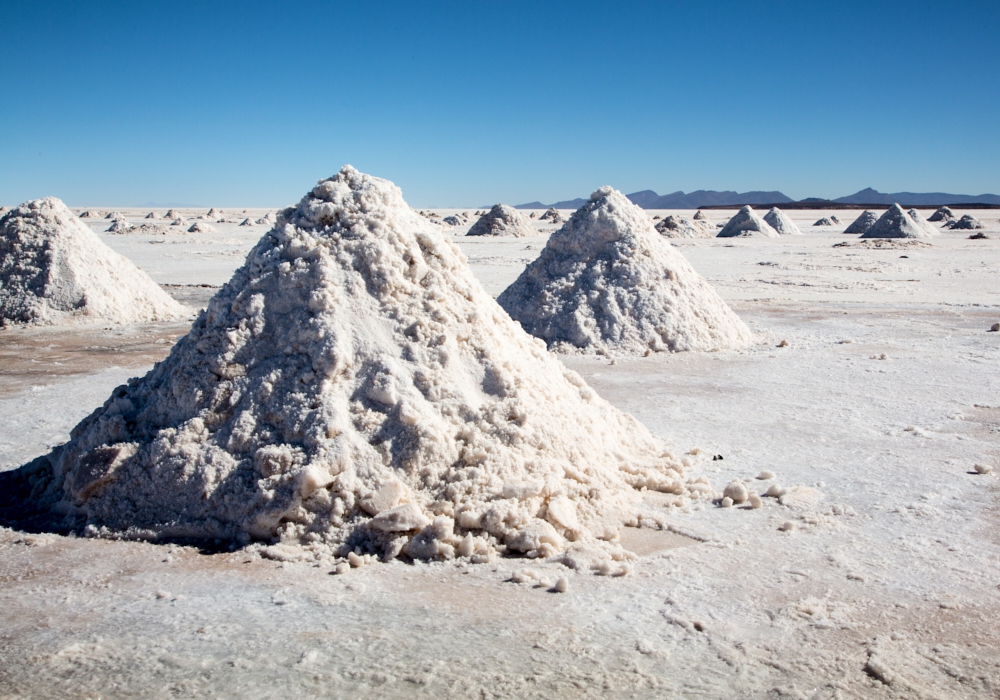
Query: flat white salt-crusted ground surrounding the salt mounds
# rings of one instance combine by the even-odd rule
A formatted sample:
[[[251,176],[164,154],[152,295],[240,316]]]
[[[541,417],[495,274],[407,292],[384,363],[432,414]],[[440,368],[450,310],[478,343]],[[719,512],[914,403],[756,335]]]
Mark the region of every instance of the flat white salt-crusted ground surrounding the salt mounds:
[[[703,462],[717,488],[763,491],[768,469],[818,502],[630,531],[643,556],[622,578],[525,560],[331,576],[0,529],[0,698],[1000,695],[1000,481],[970,473],[1000,468],[997,214],[974,212],[994,240],[871,249],[833,247],[857,242],[839,231],[858,212],[809,226],[828,213],[791,212],[803,236],[673,241],[751,349],[564,358],[677,448],[723,455]],[[102,238],[198,305],[265,230],[213,226]],[[553,228],[456,240],[498,294]],[[184,330],[0,334],[0,469],[65,440]]]

